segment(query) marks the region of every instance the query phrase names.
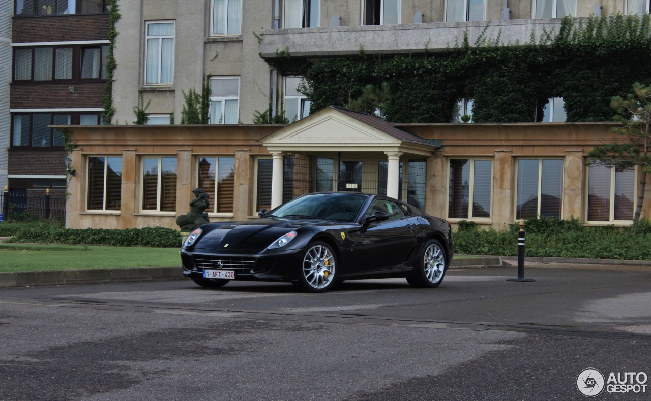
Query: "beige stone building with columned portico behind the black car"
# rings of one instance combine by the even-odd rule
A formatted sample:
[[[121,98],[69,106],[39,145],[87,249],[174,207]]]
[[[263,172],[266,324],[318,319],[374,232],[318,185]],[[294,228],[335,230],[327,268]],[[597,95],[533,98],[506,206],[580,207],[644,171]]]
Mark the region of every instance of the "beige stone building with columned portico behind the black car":
[[[471,42],[482,32],[526,42],[558,29],[563,16],[641,14],[648,0],[119,6],[117,112],[114,125],[72,128],[78,146],[69,227],[176,228],[196,187],[214,200],[212,221],[254,218],[259,209],[315,190],[388,194],[451,222],[493,227],[538,215],[594,225],[632,220],[637,172],[583,165],[593,146],[615,139],[613,124],[564,123],[560,98],[551,99],[542,124],[393,125],[338,107],[311,110],[297,90],[301,77],[283,77],[268,61],[283,49],[303,58],[355,55],[360,45],[370,54],[444,51],[464,32]],[[180,122],[183,94],[201,92],[206,77],[210,125],[170,125]],[[165,126],[132,125],[141,96],[148,123]],[[472,99],[459,102],[459,116],[471,114]],[[256,112],[270,107],[294,123],[252,124]]]

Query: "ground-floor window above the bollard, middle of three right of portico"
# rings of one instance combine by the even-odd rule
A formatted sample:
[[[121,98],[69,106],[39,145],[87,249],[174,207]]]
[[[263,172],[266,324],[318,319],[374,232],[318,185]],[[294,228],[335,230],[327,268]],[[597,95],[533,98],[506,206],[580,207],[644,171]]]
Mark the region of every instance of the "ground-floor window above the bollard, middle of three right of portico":
[[[561,159],[520,159],[517,183],[516,220],[538,216],[561,218]]]

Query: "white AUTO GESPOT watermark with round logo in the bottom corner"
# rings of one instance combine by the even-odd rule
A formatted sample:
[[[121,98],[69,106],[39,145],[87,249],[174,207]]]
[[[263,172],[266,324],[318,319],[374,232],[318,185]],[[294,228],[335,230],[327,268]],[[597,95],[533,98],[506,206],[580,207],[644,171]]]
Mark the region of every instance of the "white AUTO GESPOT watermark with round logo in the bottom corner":
[[[648,376],[644,372],[610,372],[604,376],[598,369],[581,370],[576,376],[576,388],[589,398],[596,397],[605,390],[609,394],[646,393]]]

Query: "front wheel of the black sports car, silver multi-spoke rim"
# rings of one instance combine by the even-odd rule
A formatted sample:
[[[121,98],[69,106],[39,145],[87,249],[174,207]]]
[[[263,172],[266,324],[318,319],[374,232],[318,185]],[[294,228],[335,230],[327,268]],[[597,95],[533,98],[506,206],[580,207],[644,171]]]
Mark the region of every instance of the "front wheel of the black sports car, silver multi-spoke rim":
[[[324,292],[337,279],[337,257],[326,242],[314,242],[303,253],[298,287],[307,292]]]

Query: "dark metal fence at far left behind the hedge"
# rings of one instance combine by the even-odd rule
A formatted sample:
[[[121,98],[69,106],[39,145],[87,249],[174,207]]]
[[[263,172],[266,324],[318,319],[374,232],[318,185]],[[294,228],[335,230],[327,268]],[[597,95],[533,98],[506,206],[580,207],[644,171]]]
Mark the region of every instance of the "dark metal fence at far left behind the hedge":
[[[26,189],[0,192],[0,221],[27,214],[44,220],[65,221],[66,196],[62,192],[31,192]]]

